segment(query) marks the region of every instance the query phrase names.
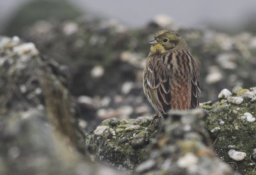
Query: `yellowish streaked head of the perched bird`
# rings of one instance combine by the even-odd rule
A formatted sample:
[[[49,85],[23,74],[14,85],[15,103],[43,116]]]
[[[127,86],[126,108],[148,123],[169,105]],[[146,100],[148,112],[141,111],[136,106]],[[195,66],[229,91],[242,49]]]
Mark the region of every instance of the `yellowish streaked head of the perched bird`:
[[[151,45],[151,54],[188,49],[185,40],[175,31],[160,31],[148,43]]]

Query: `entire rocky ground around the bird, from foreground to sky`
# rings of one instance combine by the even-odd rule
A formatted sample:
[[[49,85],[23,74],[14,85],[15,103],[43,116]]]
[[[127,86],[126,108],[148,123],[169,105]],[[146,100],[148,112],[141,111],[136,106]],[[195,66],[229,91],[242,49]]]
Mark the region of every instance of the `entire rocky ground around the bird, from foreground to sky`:
[[[42,4],[32,5],[36,16]],[[20,12],[19,29],[6,29],[19,37],[0,38],[0,174],[120,173],[88,157],[137,174],[256,173],[255,35],[181,29],[161,18],[129,29],[71,9],[67,20],[24,23],[31,14]],[[203,112],[150,125],[141,76],[148,40],[166,28],[199,63]]]

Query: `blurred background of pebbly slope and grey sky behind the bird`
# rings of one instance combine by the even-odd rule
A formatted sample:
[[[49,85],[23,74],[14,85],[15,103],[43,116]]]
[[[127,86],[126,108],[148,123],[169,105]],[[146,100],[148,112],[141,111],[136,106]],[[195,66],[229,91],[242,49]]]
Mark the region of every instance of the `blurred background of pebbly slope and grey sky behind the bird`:
[[[0,1],[0,34],[35,43],[61,64],[91,130],[103,119],[151,116],[142,89],[148,40],[173,29],[200,68],[200,102],[256,85],[256,1]]]

